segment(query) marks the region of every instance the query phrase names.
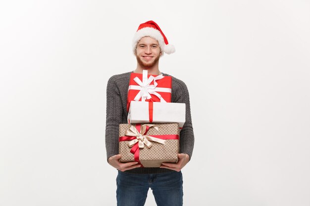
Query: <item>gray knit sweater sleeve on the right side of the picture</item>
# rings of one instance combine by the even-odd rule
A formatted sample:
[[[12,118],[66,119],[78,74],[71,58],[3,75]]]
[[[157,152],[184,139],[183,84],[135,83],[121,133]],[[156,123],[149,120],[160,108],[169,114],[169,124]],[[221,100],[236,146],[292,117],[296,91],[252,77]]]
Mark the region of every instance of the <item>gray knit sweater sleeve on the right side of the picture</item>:
[[[194,149],[194,131],[191,118],[190,97],[184,82],[176,81],[173,86],[177,88],[174,102],[186,104],[185,124],[180,131],[180,153],[188,154],[191,159]]]

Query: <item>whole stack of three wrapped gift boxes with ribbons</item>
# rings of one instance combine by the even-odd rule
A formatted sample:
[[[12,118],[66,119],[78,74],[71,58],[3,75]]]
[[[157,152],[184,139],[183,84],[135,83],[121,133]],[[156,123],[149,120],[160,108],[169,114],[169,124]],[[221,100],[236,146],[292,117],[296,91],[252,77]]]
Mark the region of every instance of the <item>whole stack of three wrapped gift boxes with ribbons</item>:
[[[171,103],[171,84],[169,76],[131,73],[128,124],[119,125],[120,162],[136,161],[143,167],[178,162],[185,103]]]

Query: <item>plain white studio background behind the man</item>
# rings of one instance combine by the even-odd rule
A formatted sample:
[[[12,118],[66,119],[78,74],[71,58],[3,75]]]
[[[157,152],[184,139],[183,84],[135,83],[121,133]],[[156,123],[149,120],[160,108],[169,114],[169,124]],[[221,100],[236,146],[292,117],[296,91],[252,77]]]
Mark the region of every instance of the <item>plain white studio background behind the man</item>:
[[[310,206],[309,0],[1,1],[0,206],[116,205],[106,83],[148,20],[190,92],[184,205]]]

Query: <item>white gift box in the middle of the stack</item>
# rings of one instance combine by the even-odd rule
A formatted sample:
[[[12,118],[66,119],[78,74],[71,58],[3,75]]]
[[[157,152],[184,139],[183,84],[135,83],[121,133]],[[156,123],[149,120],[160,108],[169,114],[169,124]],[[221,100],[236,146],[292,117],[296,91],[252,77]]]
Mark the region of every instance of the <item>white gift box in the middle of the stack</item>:
[[[131,101],[128,112],[128,124],[149,123],[149,102]],[[185,123],[185,103],[153,102],[152,123]]]

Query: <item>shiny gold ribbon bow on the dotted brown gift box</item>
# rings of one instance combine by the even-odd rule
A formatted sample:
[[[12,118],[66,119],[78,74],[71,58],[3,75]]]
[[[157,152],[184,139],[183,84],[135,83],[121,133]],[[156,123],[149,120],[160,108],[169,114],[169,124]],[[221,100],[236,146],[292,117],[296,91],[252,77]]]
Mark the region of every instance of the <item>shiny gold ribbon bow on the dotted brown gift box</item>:
[[[152,147],[152,143],[150,141],[158,142],[160,144],[165,144],[166,140],[159,139],[159,138],[156,138],[156,137],[152,137],[152,136],[149,136],[149,135],[144,135],[144,133],[146,132],[147,126],[154,127],[156,130],[158,130],[158,126],[156,126],[155,124],[143,124],[141,126],[141,131],[140,132],[137,130],[137,128],[135,126],[133,126],[133,125],[130,126],[129,130],[127,130],[125,132],[125,135],[127,135],[127,136],[135,136],[137,138],[134,139],[134,140],[131,140],[128,143],[129,147],[134,146],[137,142],[138,142],[139,148],[144,148],[144,145],[146,145],[148,148],[151,148]]]

